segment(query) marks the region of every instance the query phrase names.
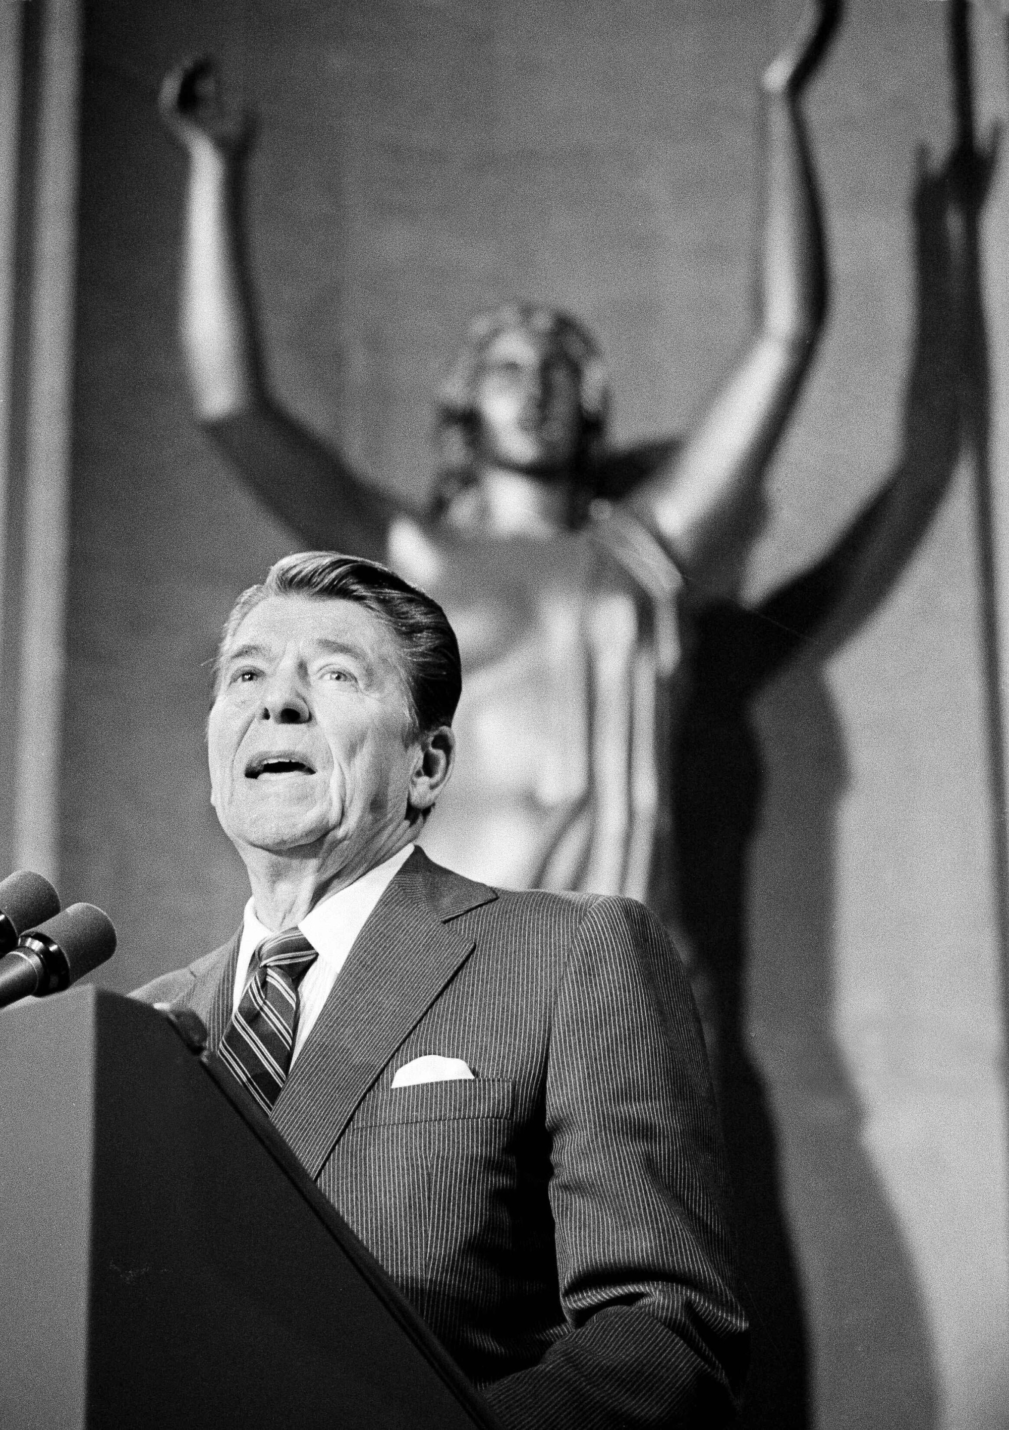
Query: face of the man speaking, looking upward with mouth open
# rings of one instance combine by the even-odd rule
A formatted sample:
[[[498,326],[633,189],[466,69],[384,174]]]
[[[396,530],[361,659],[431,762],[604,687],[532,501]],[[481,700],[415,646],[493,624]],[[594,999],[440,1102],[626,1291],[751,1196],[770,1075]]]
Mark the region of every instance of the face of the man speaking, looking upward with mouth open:
[[[354,601],[253,606],[208,722],[212,801],[239,852],[364,872],[399,847],[422,762],[401,665],[395,635]]]

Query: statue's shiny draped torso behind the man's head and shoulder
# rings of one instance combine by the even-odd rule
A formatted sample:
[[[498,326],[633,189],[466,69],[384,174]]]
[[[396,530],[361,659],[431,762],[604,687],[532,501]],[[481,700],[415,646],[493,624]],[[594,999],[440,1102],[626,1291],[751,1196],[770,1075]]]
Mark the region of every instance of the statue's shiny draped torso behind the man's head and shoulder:
[[[432,858],[664,904],[677,575],[655,542],[623,513],[550,538],[401,521],[391,559],[445,608],[462,655]]]

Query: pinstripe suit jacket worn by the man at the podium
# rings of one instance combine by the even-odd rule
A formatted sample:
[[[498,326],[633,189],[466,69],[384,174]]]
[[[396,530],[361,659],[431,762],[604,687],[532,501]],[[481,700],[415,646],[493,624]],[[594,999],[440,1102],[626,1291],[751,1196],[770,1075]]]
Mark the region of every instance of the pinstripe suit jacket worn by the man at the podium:
[[[216,1047],[238,937],[137,997]],[[392,1088],[425,1052],[472,1081]],[[716,1111],[668,938],[630,899],[415,851],[273,1108],[507,1426],[730,1423],[746,1367]]]

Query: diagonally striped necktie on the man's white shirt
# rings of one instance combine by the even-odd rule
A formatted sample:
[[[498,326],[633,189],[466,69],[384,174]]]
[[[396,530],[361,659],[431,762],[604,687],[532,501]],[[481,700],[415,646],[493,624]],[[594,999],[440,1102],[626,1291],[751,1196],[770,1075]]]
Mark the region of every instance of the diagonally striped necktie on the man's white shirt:
[[[288,1080],[298,1028],[298,984],[318,957],[296,928],[265,938],[252,955],[255,971],[220,1040],[218,1057],[265,1113]]]

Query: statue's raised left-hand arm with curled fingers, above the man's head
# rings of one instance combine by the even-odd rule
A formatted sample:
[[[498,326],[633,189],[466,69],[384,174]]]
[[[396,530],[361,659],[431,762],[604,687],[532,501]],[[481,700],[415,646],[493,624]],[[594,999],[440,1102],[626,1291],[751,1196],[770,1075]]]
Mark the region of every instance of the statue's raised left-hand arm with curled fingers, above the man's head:
[[[278,406],[263,378],[245,245],[252,117],[222,106],[206,59],[165,79],[159,107],[189,159],[179,327],[195,415],[306,545],[381,556],[394,503]]]

